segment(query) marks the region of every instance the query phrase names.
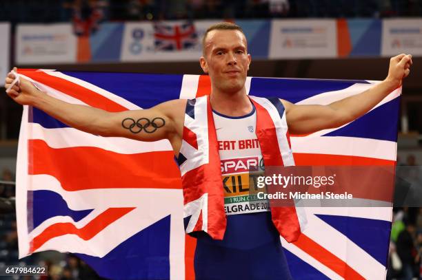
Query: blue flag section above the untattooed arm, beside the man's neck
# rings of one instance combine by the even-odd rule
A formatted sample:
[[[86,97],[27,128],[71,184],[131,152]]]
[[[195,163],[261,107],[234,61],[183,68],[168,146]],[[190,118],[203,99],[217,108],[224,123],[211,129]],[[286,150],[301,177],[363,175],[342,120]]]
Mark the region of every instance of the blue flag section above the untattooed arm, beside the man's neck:
[[[326,91],[346,89],[365,80],[307,80],[286,78],[252,78],[249,94],[267,97],[277,96],[292,103]]]

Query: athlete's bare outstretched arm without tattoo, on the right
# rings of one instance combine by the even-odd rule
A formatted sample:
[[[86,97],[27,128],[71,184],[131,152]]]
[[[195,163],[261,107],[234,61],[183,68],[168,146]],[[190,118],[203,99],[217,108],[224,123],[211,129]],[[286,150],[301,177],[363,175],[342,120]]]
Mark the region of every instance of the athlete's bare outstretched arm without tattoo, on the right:
[[[294,105],[281,100],[291,133],[307,134],[321,129],[345,125],[359,118],[378,104],[391,91],[401,86],[401,80],[409,75],[412,56],[399,54],[390,59],[388,76],[361,94],[350,96],[329,105]]]

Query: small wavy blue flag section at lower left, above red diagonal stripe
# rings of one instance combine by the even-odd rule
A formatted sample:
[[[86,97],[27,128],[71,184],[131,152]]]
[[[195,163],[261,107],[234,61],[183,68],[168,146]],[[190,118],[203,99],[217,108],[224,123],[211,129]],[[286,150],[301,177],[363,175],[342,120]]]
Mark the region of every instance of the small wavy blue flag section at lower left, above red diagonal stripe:
[[[63,197],[54,191],[28,191],[28,197],[32,197],[32,220],[34,228],[46,221],[46,219],[55,216],[69,216],[72,217],[74,222],[78,222],[93,210],[74,211],[69,208],[68,203],[63,200]]]

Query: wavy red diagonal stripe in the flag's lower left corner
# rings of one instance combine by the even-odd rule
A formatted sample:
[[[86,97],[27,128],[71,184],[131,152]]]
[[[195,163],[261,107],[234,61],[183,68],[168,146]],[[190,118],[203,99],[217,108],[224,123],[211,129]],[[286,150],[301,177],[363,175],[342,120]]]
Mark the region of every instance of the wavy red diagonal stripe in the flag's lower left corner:
[[[92,219],[92,221],[86,224],[86,226],[83,226],[83,228],[77,228],[72,223],[52,224],[30,241],[30,252],[34,252],[43,246],[43,244],[45,244],[48,240],[63,235],[77,235],[83,240],[89,240],[97,235],[101,230],[106,228],[109,224],[112,224],[112,222],[120,219],[133,209],[133,207],[108,208],[106,211]]]

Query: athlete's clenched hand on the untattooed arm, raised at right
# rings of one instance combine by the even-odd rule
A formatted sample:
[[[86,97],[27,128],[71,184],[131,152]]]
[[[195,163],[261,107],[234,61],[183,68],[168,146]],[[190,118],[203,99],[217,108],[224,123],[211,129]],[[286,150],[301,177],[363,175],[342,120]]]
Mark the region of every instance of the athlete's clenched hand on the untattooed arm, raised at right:
[[[403,78],[410,73],[410,65],[412,65],[411,54],[399,54],[390,59],[390,68],[388,69],[388,76],[385,80],[392,83],[392,87],[396,89],[401,86]]]

